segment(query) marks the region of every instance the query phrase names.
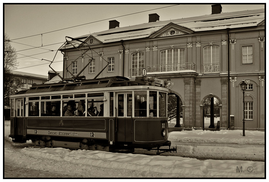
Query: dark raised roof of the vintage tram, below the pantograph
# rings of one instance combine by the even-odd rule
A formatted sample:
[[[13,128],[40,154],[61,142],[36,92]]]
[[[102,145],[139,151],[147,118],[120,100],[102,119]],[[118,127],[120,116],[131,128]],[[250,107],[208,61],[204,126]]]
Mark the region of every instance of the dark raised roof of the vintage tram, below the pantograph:
[[[49,83],[49,84],[33,85],[29,90],[22,90],[17,92],[16,94],[59,92],[66,90],[95,89],[95,88],[133,86],[133,85],[146,85],[146,82],[141,79],[130,81],[129,78],[115,76],[115,77],[83,80],[72,83]]]

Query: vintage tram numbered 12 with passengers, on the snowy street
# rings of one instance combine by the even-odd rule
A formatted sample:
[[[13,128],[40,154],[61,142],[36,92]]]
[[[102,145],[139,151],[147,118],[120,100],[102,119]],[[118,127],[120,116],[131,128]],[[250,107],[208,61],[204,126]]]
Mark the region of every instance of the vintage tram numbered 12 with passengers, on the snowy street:
[[[9,137],[34,147],[176,151],[167,140],[167,94],[148,77],[33,85],[11,96]]]

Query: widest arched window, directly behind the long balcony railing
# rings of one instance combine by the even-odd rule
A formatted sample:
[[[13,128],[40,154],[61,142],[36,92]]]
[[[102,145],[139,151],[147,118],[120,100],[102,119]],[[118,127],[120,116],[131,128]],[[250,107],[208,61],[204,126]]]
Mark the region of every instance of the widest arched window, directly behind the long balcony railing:
[[[161,71],[176,71],[178,63],[185,63],[185,49],[166,49],[161,51]]]

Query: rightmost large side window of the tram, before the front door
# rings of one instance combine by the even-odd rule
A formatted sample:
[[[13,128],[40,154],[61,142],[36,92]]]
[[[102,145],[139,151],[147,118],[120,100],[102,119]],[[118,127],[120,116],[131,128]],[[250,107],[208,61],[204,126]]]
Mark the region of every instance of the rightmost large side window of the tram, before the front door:
[[[100,115],[100,106],[103,106],[104,108],[104,99],[88,99],[88,105],[87,105],[87,116],[92,117],[92,116],[101,116],[104,115],[104,112],[102,112]]]

